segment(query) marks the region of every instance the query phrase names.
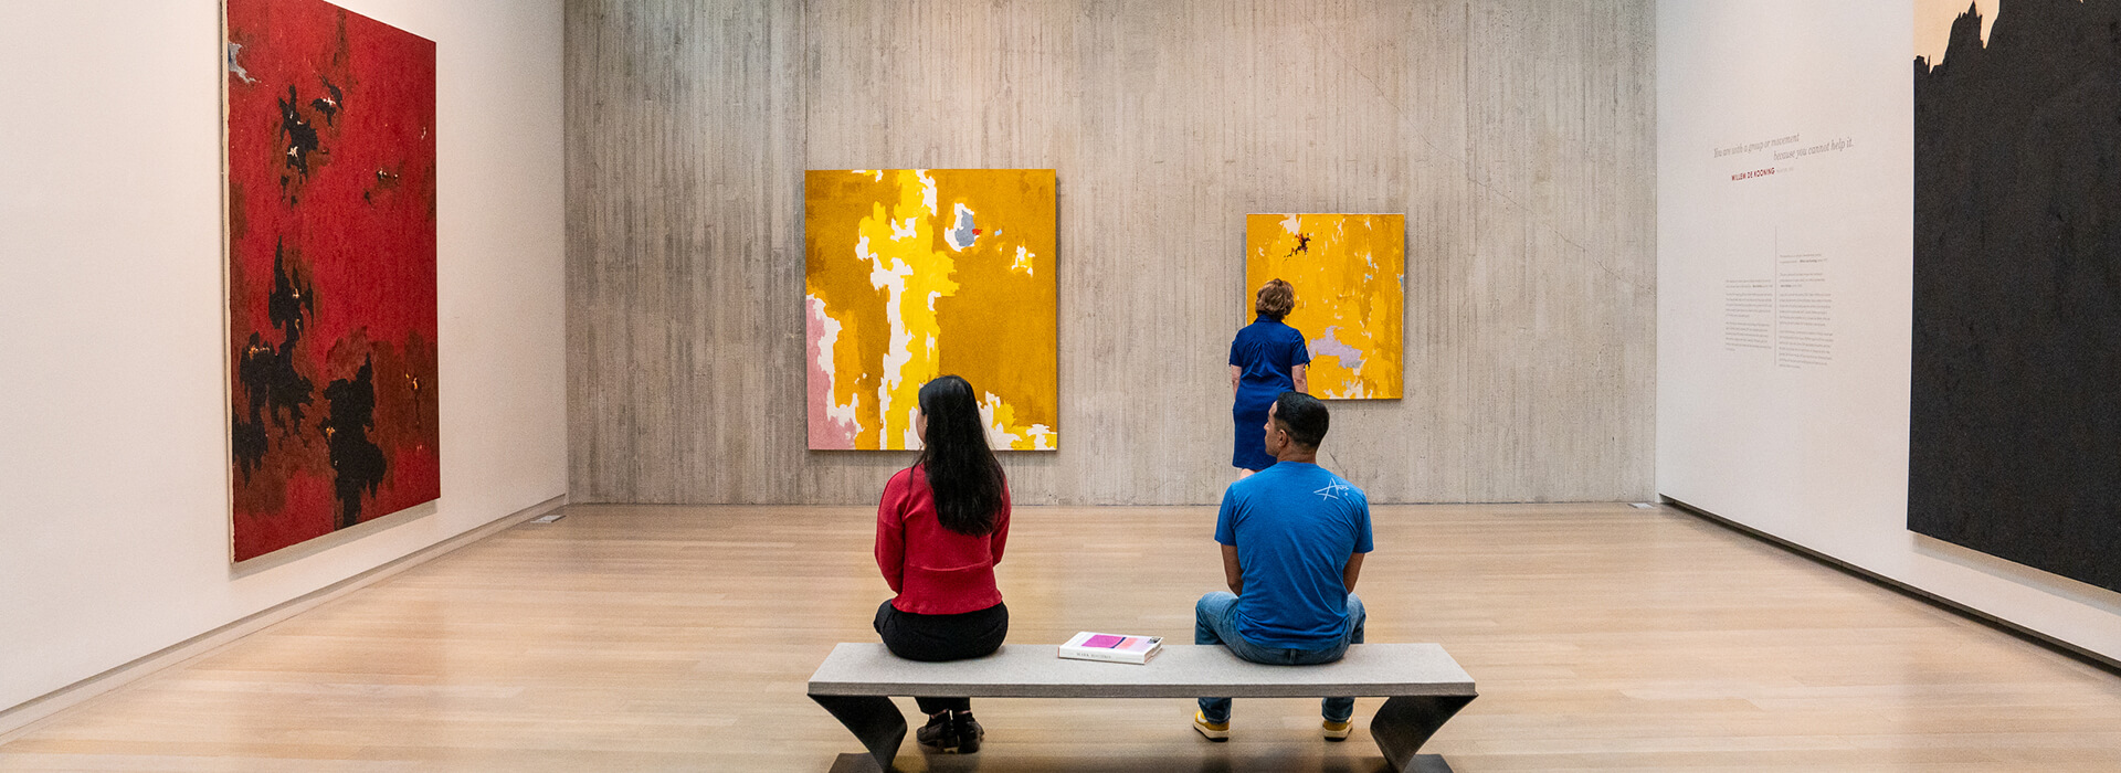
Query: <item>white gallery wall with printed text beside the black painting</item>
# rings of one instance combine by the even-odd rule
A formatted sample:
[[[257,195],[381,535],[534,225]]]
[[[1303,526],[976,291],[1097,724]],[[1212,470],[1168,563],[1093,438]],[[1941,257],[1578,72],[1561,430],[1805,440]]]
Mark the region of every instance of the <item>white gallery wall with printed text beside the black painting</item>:
[[[2121,595],[1907,532],[1911,2],[1657,4],[1659,493],[2121,659]]]

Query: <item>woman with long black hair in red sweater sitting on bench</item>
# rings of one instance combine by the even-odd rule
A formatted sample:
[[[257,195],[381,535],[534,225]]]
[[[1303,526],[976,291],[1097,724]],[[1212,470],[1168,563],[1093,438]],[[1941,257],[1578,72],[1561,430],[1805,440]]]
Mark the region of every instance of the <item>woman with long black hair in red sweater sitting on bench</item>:
[[[921,460],[884,485],[876,508],[876,568],[895,599],[876,608],[884,648],[908,661],[963,661],[1001,646],[1010,608],[995,563],[1010,538],[1010,483],[986,447],[971,383],[946,375],[921,388]],[[921,745],[944,754],[980,750],[986,731],[967,697],[916,697]]]

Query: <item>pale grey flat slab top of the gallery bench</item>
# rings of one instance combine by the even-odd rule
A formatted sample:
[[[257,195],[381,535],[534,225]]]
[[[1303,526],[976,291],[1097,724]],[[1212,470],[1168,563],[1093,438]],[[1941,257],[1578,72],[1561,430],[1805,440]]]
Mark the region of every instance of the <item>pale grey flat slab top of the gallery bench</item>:
[[[982,659],[906,661],[882,644],[840,644],[810,695],[963,697],[1474,697],[1472,676],[1436,644],[1355,644],[1324,665],[1264,665],[1207,644],[1164,644],[1147,665],[1069,661],[1054,644],[1003,644]]]

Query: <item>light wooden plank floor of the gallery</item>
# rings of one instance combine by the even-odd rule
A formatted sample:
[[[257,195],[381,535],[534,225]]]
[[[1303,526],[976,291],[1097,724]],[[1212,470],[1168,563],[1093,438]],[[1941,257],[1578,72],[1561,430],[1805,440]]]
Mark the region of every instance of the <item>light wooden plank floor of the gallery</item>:
[[[804,697],[887,597],[867,508],[573,506],[0,745],[0,771],[825,771]],[[1188,640],[1213,508],[1020,508],[1010,642]],[[1673,510],[1381,506],[1372,642],[1442,642],[1476,771],[2121,771],[2121,678]],[[912,714],[912,703],[901,701]],[[1379,705],[1357,703],[1357,729]],[[1383,771],[1317,701],[982,699],[906,771]]]

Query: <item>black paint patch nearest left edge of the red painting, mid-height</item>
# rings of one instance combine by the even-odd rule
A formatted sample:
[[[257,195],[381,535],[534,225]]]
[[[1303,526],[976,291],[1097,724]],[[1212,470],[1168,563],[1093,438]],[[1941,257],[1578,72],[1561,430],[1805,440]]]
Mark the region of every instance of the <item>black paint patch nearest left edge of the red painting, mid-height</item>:
[[[274,288],[265,303],[269,322],[280,328],[280,345],[265,343],[259,330],[250,330],[250,341],[235,362],[235,379],[250,394],[248,417],[235,417],[231,443],[235,464],[250,479],[269,449],[265,417],[280,428],[280,436],[301,428],[303,407],[314,402],[314,381],[295,371],[295,345],[301,343],[308,318],[316,313],[316,292],[308,280],[286,271],[284,244],[274,248]]]

